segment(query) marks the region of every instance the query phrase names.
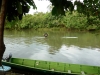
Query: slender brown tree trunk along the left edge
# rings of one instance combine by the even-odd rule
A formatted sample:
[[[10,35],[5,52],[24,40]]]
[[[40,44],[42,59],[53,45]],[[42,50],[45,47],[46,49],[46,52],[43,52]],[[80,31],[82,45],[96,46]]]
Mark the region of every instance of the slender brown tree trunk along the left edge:
[[[4,44],[4,23],[6,18],[6,6],[7,0],[2,0],[1,10],[0,10],[0,66],[3,54],[5,52],[5,44]]]

